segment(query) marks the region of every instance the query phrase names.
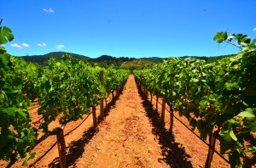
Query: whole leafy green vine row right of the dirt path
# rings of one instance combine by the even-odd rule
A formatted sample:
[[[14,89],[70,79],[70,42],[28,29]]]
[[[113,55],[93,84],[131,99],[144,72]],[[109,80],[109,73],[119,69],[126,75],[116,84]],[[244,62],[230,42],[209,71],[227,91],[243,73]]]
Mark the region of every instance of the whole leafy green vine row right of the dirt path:
[[[247,143],[256,131],[255,40],[225,32],[218,32],[214,40],[236,41],[241,52],[212,64],[170,58],[152,70],[134,73],[149,92],[184,115],[203,139],[219,132],[221,153],[228,154],[231,167],[247,167],[256,154],[255,144]]]

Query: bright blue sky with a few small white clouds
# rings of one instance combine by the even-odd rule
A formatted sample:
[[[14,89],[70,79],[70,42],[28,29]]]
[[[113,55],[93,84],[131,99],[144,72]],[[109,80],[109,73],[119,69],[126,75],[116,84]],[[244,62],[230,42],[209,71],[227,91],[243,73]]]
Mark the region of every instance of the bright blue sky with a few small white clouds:
[[[55,51],[91,58],[215,56],[239,50],[217,31],[256,38],[256,0],[0,0],[13,55]]]

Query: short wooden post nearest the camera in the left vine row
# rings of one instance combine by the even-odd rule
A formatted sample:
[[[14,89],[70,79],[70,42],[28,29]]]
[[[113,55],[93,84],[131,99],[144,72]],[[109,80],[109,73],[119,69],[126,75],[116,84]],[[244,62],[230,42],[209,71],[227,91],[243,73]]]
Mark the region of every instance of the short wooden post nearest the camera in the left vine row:
[[[61,168],[66,168],[66,144],[63,134],[63,129],[57,128],[56,130],[57,146],[59,152],[59,159]]]

